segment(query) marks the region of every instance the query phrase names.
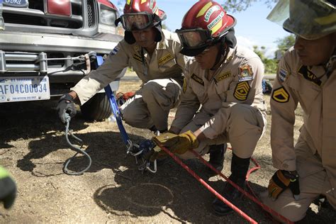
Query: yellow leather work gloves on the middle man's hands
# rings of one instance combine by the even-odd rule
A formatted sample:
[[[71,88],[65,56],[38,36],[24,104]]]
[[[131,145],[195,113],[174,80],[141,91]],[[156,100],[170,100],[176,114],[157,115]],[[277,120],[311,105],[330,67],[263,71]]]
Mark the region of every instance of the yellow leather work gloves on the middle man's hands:
[[[198,140],[191,130],[176,135],[174,133],[163,133],[152,138],[157,145],[167,147],[173,153],[182,155],[186,151],[198,147]]]

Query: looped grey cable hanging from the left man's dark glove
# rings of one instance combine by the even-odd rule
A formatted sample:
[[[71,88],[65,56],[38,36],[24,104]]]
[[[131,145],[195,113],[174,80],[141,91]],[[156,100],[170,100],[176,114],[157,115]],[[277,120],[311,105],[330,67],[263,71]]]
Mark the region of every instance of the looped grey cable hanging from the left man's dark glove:
[[[72,138],[74,138],[75,140],[77,140],[80,144],[81,144],[81,147],[83,146],[83,140],[74,136],[74,134],[72,134],[71,132],[69,132],[69,125],[70,125],[70,120],[71,120],[71,117],[69,116],[68,113],[65,113],[65,120],[66,120],[66,124],[65,124],[65,139],[67,140],[67,143],[69,144],[69,146],[71,147],[72,150],[74,150],[76,152],[76,154],[73,156],[73,157],[70,157],[69,159],[67,159],[65,161],[65,165],[63,167],[63,172],[65,172],[65,174],[68,174],[68,175],[81,175],[83,174],[84,172],[86,172],[90,167],[91,167],[91,163],[92,163],[92,160],[91,160],[91,157],[89,156],[89,154],[87,154],[84,150],[82,150],[81,148],[77,147],[76,145],[73,145],[70,141],[69,141],[69,135],[72,136]],[[69,169],[67,169],[67,166],[69,165],[69,163],[71,162],[71,160],[77,156],[77,154],[82,154],[84,155],[88,160],[89,160],[89,164],[87,165],[87,167],[85,169],[82,169],[81,171],[79,172],[71,172],[69,171]]]

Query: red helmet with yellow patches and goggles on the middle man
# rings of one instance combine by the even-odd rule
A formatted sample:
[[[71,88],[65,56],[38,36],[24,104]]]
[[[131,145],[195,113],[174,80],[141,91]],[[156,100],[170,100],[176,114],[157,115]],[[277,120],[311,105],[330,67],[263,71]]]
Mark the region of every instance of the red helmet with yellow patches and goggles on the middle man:
[[[182,28],[176,30],[184,48],[181,53],[188,56],[200,54],[206,47],[218,43],[236,22],[217,2],[198,1],[186,12]]]

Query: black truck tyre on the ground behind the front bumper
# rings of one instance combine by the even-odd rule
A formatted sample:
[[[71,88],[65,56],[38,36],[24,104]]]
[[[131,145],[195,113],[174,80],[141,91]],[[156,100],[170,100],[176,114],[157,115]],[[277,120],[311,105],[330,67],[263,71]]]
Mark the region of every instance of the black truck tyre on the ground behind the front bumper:
[[[94,95],[81,106],[83,117],[88,121],[103,121],[111,116],[112,108],[105,93]]]

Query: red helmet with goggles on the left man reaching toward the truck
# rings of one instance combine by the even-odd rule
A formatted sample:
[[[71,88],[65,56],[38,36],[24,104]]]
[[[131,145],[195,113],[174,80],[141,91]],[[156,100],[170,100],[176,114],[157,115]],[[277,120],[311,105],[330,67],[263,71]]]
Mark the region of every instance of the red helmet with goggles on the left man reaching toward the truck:
[[[127,0],[123,13],[121,23],[128,31],[156,26],[167,18],[164,11],[157,7],[155,0]]]

